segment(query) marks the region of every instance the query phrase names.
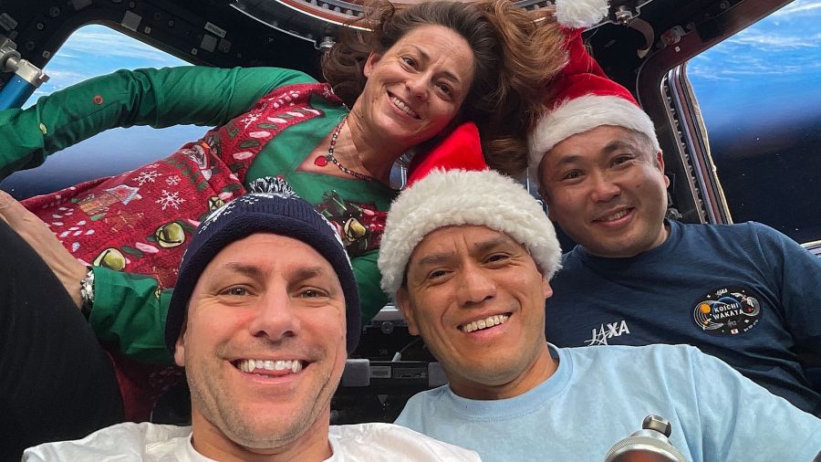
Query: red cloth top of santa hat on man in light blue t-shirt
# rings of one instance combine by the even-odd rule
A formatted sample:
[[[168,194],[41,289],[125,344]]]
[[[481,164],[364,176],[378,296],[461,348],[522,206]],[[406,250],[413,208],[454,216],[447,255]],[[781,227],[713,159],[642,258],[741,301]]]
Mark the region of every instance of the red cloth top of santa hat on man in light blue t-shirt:
[[[479,129],[473,122],[462,123],[442,142],[417,155],[408,165],[408,181],[411,186],[434,170],[484,170],[489,168],[482,155],[482,142],[479,140]]]

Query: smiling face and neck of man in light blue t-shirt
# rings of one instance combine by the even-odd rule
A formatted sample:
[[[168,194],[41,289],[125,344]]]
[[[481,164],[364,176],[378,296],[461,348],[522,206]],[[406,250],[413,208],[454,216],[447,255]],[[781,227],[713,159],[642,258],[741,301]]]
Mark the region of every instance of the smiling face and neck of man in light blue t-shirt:
[[[413,250],[397,302],[454,393],[525,393],[556,369],[545,340],[552,294],[525,247],[484,226],[446,226]]]

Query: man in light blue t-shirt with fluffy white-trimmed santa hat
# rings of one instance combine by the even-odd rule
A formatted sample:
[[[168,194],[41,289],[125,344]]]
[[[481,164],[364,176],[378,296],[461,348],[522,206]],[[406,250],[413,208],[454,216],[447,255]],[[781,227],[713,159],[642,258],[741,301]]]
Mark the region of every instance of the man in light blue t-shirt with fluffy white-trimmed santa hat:
[[[673,447],[656,452],[649,426],[633,449],[654,447],[608,460],[821,457],[821,420],[689,345],[547,343],[560,258],[542,206],[500,173],[435,171],[402,191],[382,236],[381,287],[448,384],[411,397],[396,424],[486,462],[603,460],[648,415]]]

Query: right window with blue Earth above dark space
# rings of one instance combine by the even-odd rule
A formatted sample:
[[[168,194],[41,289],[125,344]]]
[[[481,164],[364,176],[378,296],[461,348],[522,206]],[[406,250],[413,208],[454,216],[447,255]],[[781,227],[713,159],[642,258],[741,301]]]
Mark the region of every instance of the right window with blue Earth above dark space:
[[[821,239],[821,3],[795,0],[691,59],[733,222]]]

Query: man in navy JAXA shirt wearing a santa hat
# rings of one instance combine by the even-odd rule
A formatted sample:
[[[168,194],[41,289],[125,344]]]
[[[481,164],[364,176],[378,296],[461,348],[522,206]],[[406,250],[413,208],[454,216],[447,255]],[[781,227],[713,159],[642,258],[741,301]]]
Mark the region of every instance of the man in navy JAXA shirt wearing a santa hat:
[[[653,122],[568,33],[569,62],[530,140],[528,173],[577,247],[551,281],[546,335],[558,346],[686,343],[805,412],[821,394],[821,259],[759,223],[665,218]],[[566,249],[567,250],[567,249]]]

